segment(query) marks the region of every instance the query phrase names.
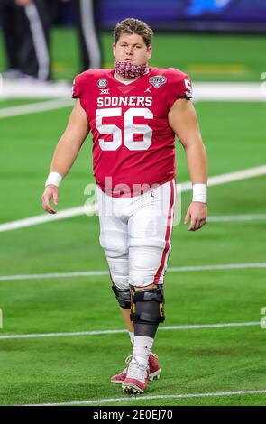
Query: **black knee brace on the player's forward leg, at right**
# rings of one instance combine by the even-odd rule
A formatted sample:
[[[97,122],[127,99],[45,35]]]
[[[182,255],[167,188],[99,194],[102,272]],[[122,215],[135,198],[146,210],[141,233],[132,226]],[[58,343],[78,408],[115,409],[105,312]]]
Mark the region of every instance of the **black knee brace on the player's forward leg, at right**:
[[[162,285],[158,289],[134,291],[131,286],[132,306],[130,318],[135,323],[159,324],[165,319]]]

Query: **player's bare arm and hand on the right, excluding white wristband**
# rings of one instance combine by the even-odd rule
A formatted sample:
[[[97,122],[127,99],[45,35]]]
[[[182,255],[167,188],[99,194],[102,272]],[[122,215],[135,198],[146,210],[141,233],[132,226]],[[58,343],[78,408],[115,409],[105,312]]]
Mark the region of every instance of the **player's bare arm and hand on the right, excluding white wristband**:
[[[206,148],[202,142],[196,110],[190,100],[179,98],[169,112],[169,124],[183,145],[188,172],[192,184],[206,184],[207,160]],[[188,207],[185,224],[190,221],[188,231],[196,231],[206,224],[206,203],[192,201]]]

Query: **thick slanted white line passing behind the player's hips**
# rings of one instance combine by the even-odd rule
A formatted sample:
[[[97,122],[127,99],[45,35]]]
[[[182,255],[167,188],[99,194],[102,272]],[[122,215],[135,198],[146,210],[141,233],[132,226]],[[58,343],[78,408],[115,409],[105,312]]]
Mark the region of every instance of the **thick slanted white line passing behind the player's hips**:
[[[208,186],[216,186],[219,184],[225,184],[227,182],[244,180],[247,178],[258,177],[266,174],[266,165],[258,166],[255,168],[246,169],[243,171],[229,172],[222,175],[210,177],[208,179]],[[191,182],[184,182],[178,185],[179,193],[186,192],[192,189]],[[78,217],[81,215],[91,215],[96,213],[97,204],[93,203],[88,206],[71,207],[65,210],[61,210],[55,215],[41,214],[36,217],[29,217],[18,219],[16,221],[7,222],[0,224],[0,232],[15,230],[26,226],[36,226],[47,222],[53,222],[60,219],[66,219],[69,217]]]

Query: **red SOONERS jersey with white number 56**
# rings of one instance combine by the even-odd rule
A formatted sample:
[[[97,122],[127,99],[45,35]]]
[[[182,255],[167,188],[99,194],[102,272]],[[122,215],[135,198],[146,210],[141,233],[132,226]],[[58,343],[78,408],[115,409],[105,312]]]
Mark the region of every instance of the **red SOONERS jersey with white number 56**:
[[[188,75],[179,69],[150,68],[124,84],[114,69],[79,74],[73,97],[87,114],[93,135],[96,184],[115,198],[136,196],[175,177],[175,134],[171,106],[192,97]]]

